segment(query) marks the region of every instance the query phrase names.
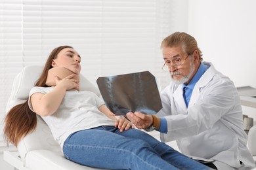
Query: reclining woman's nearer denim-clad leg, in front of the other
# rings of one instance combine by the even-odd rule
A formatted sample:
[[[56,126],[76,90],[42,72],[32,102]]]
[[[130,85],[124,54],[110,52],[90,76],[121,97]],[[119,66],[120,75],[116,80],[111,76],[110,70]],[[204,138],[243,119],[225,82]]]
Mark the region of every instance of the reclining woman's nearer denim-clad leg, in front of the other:
[[[66,139],[63,152],[67,159],[106,169],[177,169],[140,140],[123,137],[102,129],[73,133]]]

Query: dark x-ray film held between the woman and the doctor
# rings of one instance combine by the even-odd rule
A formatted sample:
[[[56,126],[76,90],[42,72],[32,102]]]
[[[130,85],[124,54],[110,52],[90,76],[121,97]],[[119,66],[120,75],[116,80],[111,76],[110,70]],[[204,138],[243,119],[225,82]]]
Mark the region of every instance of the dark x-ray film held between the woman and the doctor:
[[[96,82],[106,106],[117,115],[156,114],[162,108],[156,78],[149,71],[99,77]]]

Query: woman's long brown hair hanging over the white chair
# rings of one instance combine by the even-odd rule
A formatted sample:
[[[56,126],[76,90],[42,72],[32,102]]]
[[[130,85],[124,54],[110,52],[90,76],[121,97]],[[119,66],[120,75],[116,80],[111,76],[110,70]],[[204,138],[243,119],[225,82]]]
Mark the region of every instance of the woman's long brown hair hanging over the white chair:
[[[53,68],[52,61],[56,59],[58,53],[64,48],[72,48],[72,46],[59,46],[53,49],[35,86],[47,87],[45,82],[49,69]],[[28,135],[28,133],[31,133],[36,126],[37,116],[28,107],[28,100],[25,103],[16,105],[5,116],[5,127],[3,131],[5,141],[7,144],[12,143],[14,146],[18,146],[20,140]]]

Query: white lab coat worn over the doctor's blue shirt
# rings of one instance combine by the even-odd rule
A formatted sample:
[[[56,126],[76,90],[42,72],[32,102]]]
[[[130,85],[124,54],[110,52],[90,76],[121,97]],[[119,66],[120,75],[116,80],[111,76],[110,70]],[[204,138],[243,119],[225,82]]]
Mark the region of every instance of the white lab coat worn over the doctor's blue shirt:
[[[163,109],[158,116],[165,116],[168,130],[160,134],[161,141],[177,140],[183,154],[215,160],[218,169],[254,167],[236,87],[212,63],[203,63],[210,67],[196,83],[188,109],[182,84],[171,82],[161,92]]]

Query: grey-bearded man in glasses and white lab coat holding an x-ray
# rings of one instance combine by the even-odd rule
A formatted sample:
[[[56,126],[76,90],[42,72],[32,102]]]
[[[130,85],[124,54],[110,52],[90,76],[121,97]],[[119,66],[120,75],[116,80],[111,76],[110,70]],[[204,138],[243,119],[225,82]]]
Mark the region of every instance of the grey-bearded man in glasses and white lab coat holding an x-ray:
[[[161,92],[163,109],[156,116],[128,112],[127,118],[139,129],[160,131],[163,142],[176,140],[183,154],[207,159],[213,169],[254,167],[233,82],[202,61],[187,33],[169,35],[161,49],[172,80]]]

